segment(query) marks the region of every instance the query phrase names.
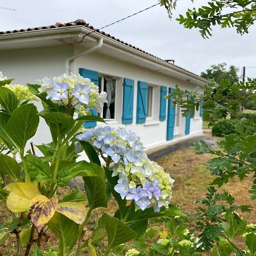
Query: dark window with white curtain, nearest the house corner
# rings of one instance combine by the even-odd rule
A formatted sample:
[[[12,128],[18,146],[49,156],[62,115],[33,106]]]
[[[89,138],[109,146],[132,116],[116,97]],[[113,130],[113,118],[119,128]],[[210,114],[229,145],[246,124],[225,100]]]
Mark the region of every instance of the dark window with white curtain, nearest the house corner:
[[[98,87],[100,92],[107,93],[108,103],[104,103],[103,112],[100,116],[106,120],[115,119],[115,102],[117,79],[109,76],[100,76],[98,79]]]

